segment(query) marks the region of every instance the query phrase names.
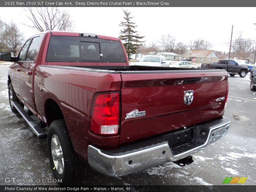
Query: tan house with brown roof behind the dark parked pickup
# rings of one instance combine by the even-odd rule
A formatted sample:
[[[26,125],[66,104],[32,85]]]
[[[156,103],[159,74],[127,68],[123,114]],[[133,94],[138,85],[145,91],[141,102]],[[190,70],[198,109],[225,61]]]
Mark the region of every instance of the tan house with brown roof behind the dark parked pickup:
[[[195,63],[213,63],[218,60],[218,56],[213,50],[188,50],[181,55],[181,59],[184,58],[191,61],[196,58],[196,60],[194,59]]]

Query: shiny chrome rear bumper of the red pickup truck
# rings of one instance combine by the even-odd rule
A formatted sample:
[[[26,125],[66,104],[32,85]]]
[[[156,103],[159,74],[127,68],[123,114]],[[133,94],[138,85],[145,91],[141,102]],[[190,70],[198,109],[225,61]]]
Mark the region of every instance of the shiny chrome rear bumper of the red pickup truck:
[[[154,147],[145,147],[135,152],[128,151],[126,154],[109,155],[106,151],[88,146],[88,162],[96,171],[108,176],[122,176],[155,167],[166,162],[173,162],[190,156],[207,145],[219,140],[228,132],[230,120],[223,117],[222,121],[207,122],[208,135],[206,141],[194,148],[174,155],[168,142],[162,142]],[[202,125],[200,125],[202,126]]]

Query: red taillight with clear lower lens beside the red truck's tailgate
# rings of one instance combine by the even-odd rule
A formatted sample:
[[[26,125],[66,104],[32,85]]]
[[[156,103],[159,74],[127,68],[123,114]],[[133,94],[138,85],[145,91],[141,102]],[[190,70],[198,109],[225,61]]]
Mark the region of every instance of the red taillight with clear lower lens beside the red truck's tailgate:
[[[119,106],[119,93],[96,95],[91,113],[91,132],[99,135],[117,135]]]

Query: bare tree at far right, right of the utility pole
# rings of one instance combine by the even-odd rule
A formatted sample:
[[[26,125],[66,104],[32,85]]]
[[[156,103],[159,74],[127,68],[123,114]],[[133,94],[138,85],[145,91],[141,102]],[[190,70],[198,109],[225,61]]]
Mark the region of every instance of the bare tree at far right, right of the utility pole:
[[[252,40],[242,38],[242,33],[232,42],[231,48],[238,59],[248,58],[253,53]]]

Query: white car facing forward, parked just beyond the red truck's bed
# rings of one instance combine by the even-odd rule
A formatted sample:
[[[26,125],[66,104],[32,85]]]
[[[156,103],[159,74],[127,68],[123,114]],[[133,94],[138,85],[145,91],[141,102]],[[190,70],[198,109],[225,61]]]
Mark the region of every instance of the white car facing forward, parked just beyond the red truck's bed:
[[[169,63],[167,63],[164,57],[159,55],[145,55],[140,59],[140,61],[132,63],[130,65],[169,67]]]

